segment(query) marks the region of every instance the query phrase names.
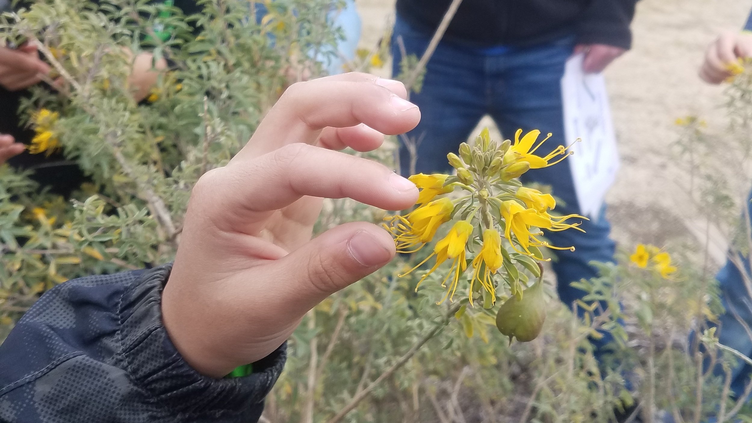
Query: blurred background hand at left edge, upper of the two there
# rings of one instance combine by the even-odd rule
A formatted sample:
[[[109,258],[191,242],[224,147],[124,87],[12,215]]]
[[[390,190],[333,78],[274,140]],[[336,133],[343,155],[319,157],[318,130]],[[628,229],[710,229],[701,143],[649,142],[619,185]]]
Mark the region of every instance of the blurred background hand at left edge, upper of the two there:
[[[39,59],[37,47],[23,44],[17,49],[0,47],[0,85],[18,91],[39,83],[41,74],[50,72],[50,65]]]

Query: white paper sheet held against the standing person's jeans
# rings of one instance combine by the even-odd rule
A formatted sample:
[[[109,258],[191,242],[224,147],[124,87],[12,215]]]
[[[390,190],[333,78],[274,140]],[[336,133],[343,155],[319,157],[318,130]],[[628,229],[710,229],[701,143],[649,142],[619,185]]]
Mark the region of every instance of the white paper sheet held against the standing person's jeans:
[[[619,169],[619,153],[605,79],[602,74],[585,74],[583,60],[584,54],[569,59],[562,77],[564,131],[575,153],[567,160],[580,211],[597,219]],[[575,142],[578,138],[581,142]]]

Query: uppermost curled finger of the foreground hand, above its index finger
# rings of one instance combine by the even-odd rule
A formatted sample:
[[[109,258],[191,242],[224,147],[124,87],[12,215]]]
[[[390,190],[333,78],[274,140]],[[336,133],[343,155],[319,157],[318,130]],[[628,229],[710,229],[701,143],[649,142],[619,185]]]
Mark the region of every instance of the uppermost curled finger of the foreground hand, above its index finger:
[[[313,144],[326,127],[363,123],[382,134],[405,133],[420,120],[420,110],[402,98],[405,94],[401,83],[367,74],[293,84],[235,159],[262,156],[287,144]]]

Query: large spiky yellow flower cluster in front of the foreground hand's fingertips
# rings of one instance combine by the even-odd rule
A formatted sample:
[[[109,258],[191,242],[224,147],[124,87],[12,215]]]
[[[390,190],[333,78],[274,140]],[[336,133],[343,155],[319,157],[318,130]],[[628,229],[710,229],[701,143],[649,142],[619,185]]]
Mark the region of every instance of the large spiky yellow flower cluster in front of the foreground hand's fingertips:
[[[389,216],[384,225],[395,238],[397,250],[403,253],[417,252],[432,242],[441,225],[455,219],[448,234],[438,240],[433,252],[419,264],[402,275],[412,273],[427,261],[435,258],[433,266],[420,278],[420,283],[429,274],[438,270],[445,261],[450,261],[449,270],[441,286],[447,289],[447,298],[452,301],[459,285],[459,279],[468,265],[468,253],[475,253],[469,264],[473,267],[470,279],[470,304],[473,303],[475,281],[480,288],[490,294],[492,303],[496,301],[496,275],[505,260],[511,260],[510,252],[502,244],[502,238],[517,255],[543,260],[538,247],[553,249],[574,249],[573,247],[551,246],[541,240],[541,229],[563,231],[579,228],[581,223],[566,223],[568,219],[585,219],[583,216],[552,216],[550,210],[556,201],[550,194],[536,189],[521,187],[514,177],[529,169],[554,165],[569,156],[566,147],[556,147],[545,156],[536,156],[535,151],[550,137],[535,145],[540,131],[530,131],[520,139],[522,131],[517,131],[514,143],[506,140],[501,145],[490,140],[486,130],[476,141],[475,150],[463,143],[456,154],[447,156],[450,165],[456,168],[456,176],[446,174],[417,174],[409,179],[420,189],[416,202],[418,207],[404,216]],[[553,159],[559,157],[555,161]],[[460,188],[469,195],[451,199],[442,197]],[[478,231],[475,231],[478,228]],[[482,239],[481,239],[482,238]],[[474,246],[481,247],[474,252]],[[532,267],[538,271],[534,261]],[[513,262],[509,264],[513,264]],[[533,271],[533,270],[531,270]],[[536,275],[537,276],[537,275]],[[416,288],[417,289],[417,288]],[[518,291],[521,295],[521,289]]]

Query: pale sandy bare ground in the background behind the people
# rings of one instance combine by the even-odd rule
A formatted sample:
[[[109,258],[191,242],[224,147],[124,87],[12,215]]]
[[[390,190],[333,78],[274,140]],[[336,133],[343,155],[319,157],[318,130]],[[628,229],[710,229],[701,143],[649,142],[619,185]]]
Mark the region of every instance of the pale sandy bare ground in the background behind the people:
[[[384,34],[394,2],[356,3],[363,20],[361,44],[370,48]],[[638,242],[663,246],[704,240],[704,229],[698,229],[704,221],[682,188],[686,171],[673,159],[669,144],[678,137],[674,122],[680,116],[702,116],[711,131],[725,125],[719,110],[723,88],[702,83],[697,69],[707,44],[723,29],[741,28],[750,6],[749,0],[638,4],[632,51],[606,71],[621,154],[620,173],[607,202],[614,238],[627,248]],[[481,125],[493,122],[484,119]],[[722,159],[717,160],[723,166]],[[714,258],[723,261],[724,237],[714,238]]]

